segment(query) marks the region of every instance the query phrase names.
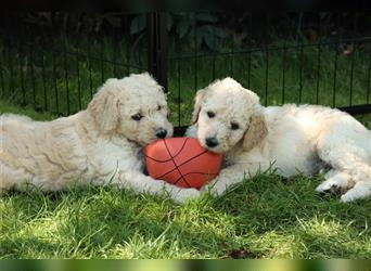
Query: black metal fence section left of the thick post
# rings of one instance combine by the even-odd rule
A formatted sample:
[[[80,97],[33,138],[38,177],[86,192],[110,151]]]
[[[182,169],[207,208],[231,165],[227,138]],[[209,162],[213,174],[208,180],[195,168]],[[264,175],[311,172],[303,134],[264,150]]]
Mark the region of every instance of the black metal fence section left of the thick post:
[[[148,70],[144,38],[130,35],[135,16],[121,16],[120,28],[108,25],[98,31],[79,26],[82,29],[77,31],[74,26],[79,21],[60,25],[73,20],[68,13],[3,12],[1,100],[65,116],[85,108],[107,78]],[[103,27],[98,23],[91,27]]]

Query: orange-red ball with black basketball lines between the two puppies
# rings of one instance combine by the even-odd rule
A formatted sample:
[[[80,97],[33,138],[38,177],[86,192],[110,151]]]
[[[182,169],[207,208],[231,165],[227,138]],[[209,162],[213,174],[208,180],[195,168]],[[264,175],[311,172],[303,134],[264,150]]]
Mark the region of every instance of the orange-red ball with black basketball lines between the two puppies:
[[[201,189],[219,173],[221,154],[202,147],[196,139],[161,139],[145,147],[149,175],[181,188]]]

